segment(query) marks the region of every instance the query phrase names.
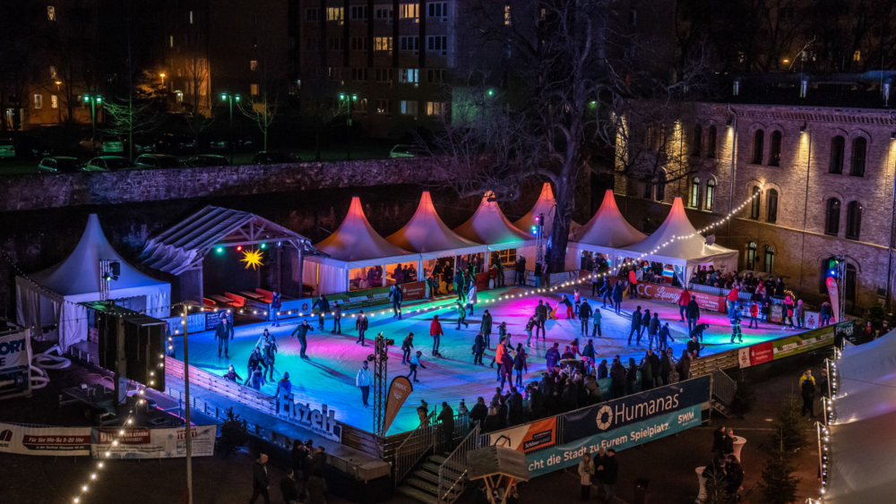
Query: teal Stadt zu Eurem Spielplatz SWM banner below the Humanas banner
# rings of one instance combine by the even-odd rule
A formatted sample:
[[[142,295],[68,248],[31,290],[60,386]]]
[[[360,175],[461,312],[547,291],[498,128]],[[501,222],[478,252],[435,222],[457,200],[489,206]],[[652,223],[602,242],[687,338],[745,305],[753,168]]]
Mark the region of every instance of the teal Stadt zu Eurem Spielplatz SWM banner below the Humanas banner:
[[[530,477],[575,466],[582,459],[582,455],[594,453],[601,447],[620,451],[696,427],[700,425],[700,412],[700,405],[689,406],[673,413],[661,414],[642,422],[629,423],[625,427],[530,453],[526,456]]]

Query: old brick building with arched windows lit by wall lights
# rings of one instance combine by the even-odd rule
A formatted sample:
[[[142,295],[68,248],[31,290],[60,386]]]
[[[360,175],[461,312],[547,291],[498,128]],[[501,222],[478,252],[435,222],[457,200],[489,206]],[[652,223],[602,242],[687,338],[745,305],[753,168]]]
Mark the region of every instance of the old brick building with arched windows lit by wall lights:
[[[676,196],[704,226],[759,192],[716,232],[740,252],[740,269],[784,277],[820,303],[829,259],[846,256],[848,310],[892,299],[896,118],[884,109],[708,103],[697,116],[676,127],[675,144],[694,173],[659,191],[616,177],[634,226],[659,226]]]

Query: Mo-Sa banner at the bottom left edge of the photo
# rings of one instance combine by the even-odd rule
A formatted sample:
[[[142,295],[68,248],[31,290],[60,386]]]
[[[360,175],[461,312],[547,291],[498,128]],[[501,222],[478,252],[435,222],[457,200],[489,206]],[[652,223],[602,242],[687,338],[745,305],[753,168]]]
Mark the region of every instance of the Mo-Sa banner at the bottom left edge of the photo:
[[[90,455],[90,427],[22,427],[0,423],[0,452],[79,457]]]

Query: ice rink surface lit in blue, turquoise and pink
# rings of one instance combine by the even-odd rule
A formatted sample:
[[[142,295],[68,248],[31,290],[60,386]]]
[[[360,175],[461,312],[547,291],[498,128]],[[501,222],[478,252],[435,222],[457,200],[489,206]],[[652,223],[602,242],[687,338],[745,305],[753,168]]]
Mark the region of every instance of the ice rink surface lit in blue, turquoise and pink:
[[[685,347],[687,325],[678,320],[678,307],[676,304],[643,299],[625,299],[622,303],[623,312],[616,315],[609,309],[602,309],[599,300],[595,300],[590,294],[590,283],[582,284],[587,289],[582,289],[582,297],[589,300],[592,308],[598,308],[603,315],[601,328],[603,337],[594,338],[595,352],[598,360],[606,358],[611,361],[614,355],[623,357],[627,363],[628,357],[641,360],[646,350],[646,331],[642,338],[642,346],[628,346],[626,340],[631,327],[631,312],[636,304],[650,311],[659,310],[659,318],[663,322],[669,322],[672,335],[676,338],[670,344],[676,358],[681,355]],[[567,294],[570,288],[563,289]],[[401,341],[409,332],[414,333],[414,349],[423,351],[422,362],[426,369],[418,370],[420,383],[414,384],[414,391],[408,398],[401,413],[392,423],[390,433],[409,431],[418,425],[416,412],[420,399],[426,399],[430,408],[441,406],[442,401],[448,401],[452,407],[456,407],[461,398],[466,399],[467,406],[472,408],[476,404],[476,398],[485,397],[488,401],[495,394],[496,369],[488,367],[494,348],[497,343],[497,326],[507,322],[507,329],[512,335],[511,341],[514,348],[518,343],[525,344],[525,325],[530,315],[534,312],[538,299],[544,299],[552,306],[560,299],[561,291],[552,293],[532,294],[531,288],[517,288],[515,286],[492,291],[481,292],[478,295],[479,303],[474,309],[473,315],[468,315],[467,321],[470,327],[461,326],[457,329],[457,315],[451,308],[456,298],[436,299],[424,303],[405,303],[402,320],[392,318],[392,306],[378,306],[376,309],[366,309],[369,317],[369,328],[366,331],[367,346],[360,346],[355,341],[358,331],[355,330],[355,319],[352,315],[358,310],[343,313],[342,333],[332,334],[332,318],[325,321],[325,329],[317,329],[317,317],[306,317],[314,330],[308,333],[307,355],[310,359],[303,361],[299,357],[300,345],[290,333],[301,319],[286,319],[281,321],[281,327],[273,328],[270,322],[237,325],[234,340],[230,342],[229,359],[218,357],[218,345],[214,340],[213,331],[205,331],[190,335],[190,363],[209,372],[223,374],[227,371],[228,364],[233,363],[237,373],[246,379],[246,363],[254,346],[259,342],[262,331],[265,328],[271,330],[271,334],[277,338],[279,350],[274,364],[275,382],[263,386],[263,392],[273,395],[276,391],[276,380],[280,380],[283,372],[289,372],[293,383],[293,392],[297,401],[310,403],[312,406],[326,404],[336,410],[336,418],[342,422],[355,425],[358,428],[370,431],[373,427],[373,407],[365,408],[361,402],[361,392],[355,386],[355,376],[361,366],[361,361],[372,352],[372,338],[379,332],[386,337],[395,340],[395,346],[389,349],[389,378],[400,374],[407,374],[409,368],[401,365]],[[571,294],[570,297],[572,298]],[[510,296],[498,300],[499,296]],[[470,347],[479,330],[482,313],[491,312],[494,325],[490,351],[483,357],[486,366],[473,365],[473,355]],[[383,313],[385,312],[385,313]],[[432,338],[429,337],[429,324],[433,315],[437,314],[443,321],[445,336],[442,337],[440,352],[441,358],[431,355]],[[565,310],[561,306],[557,310],[559,320],[548,320],[547,344],[538,341],[533,343],[529,351],[529,372],[524,376],[524,383],[532,380],[540,380],[541,372],[546,369],[545,352],[555,342],[560,344],[560,351],[575,337],[580,337],[579,320],[566,320]],[[372,316],[371,316],[372,315]],[[705,350],[702,355],[711,355],[738,346],[748,346],[754,343],[782,337],[793,332],[787,332],[778,324],[762,323],[760,329],[747,329],[749,320],[743,320],[744,343],[731,345],[731,329],[728,317],[722,313],[702,313],[701,322],[710,324],[710,329],[704,333],[703,345]],[[237,319],[237,324],[239,320]],[[580,339],[580,347],[583,347],[588,338]],[[183,336],[175,336],[174,342],[177,358],[183,359]],[[634,341],[633,341],[634,344]],[[496,366],[497,364],[495,364]],[[169,377],[169,380],[173,378]],[[505,386],[506,389],[506,386]],[[372,393],[372,391],[371,391]],[[373,405],[371,398],[370,404]]]

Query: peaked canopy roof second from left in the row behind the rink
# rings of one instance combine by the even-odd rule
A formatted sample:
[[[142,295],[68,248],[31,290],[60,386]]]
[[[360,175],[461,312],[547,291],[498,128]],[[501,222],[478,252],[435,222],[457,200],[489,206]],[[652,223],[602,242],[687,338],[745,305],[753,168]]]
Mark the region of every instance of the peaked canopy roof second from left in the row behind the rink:
[[[423,192],[414,217],[404,227],[386,237],[386,241],[406,251],[418,252],[422,259],[487,252],[485,245],[462,238],[445,226],[435,213],[433,199],[428,191]]]

